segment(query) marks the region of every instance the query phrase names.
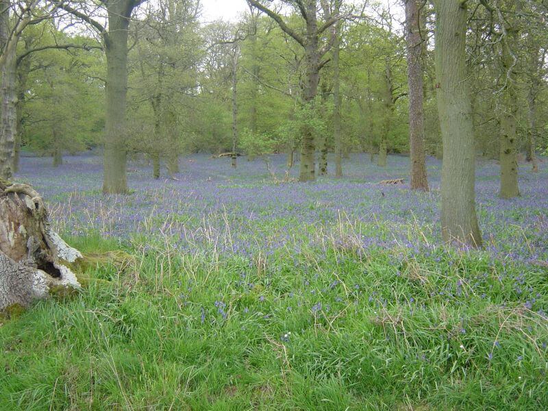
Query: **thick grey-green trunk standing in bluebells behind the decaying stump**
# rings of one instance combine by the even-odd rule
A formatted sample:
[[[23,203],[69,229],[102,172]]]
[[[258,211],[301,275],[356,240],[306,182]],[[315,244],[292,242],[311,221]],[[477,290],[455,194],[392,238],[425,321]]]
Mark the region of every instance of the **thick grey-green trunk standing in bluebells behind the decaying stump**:
[[[103,193],[127,192],[127,29],[134,1],[108,1],[105,155]]]

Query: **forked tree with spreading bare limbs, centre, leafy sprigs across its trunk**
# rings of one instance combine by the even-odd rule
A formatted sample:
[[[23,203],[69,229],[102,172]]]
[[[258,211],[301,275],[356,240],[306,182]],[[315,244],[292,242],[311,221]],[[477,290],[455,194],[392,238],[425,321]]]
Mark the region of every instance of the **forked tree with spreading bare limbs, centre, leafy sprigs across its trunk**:
[[[340,0],[334,1],[340,3]],[[292,37],[301,45],[301,47],[303,47],[306,61],[306,80],[303,88],[302,100],[305,105],[314,105],[314,99],[316,99],[318,93],[320,70],[327,63],[327,60],[322,60],[322,58],[325,53],[331,49],[335,40],[333,30],[328,40],[325,41],[323,45],[320,44],[320,40],[323,37],[323,33],[332,28],[342,17],[338,13],[334,14],[325,1],[284,1],[284,3],[292,5],[301,16],[303,24],[306,26],[305,33],[301,34],[297,29],[289,27],[280,14],[267,8],[260,3],[260,1],[247,0],[247,3],[271,17],[288,36]],[[319,3],[321,3],[321,8],[323,9],[323,22],[321,25],[318,25]],[[336,10],[339,9],[336,8]],[[309,182],[316,179],[315,151],[316,144],[314,142],[313,130],[308,127],[303,127],[299,182]]]

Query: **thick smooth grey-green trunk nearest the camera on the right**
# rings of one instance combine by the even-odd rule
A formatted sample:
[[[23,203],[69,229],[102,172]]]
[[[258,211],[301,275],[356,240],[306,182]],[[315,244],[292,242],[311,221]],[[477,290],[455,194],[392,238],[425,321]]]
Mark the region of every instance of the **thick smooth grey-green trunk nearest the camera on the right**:
[[[438,114],[443,138],[441,227],[443,239],[481,247],[475,212],[475,147],[469,75],[466,73],[466,6],[435,0]]]

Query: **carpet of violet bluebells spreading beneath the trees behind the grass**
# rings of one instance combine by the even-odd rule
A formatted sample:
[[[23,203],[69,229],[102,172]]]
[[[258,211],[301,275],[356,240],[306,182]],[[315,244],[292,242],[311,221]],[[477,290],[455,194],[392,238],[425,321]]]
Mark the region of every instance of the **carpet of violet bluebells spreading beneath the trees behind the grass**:
[[[439,238],[439,161],[428,162],[431,193],[402,186],[382,186],[384,179],[407,177],[408,158],[392,156],[386,169],[355,155],[345,164],[344,179],[321,178],[316,184],[276,184],[264,160],[206,155],[185,158],[180,181],[150,178],[150,167],[134,163],[129,172],[131,195],[101,195],[98,157],[66,158],[59,169],[49,158],[24,159],[19,177],[32,182],[49,201],[60,232],[131,238],[170,236],[184,252],[211,250],[250,256],[285,248],[325,247],[341,223],[359,225],[359,246],[428,253]],[[270,169],[282,180],[284,155],[270,158]],[[477,211],[489,253],[499,258],[548,260],[548,165],[539,173],[522,166],[521,197],[502,200],[499,166],[477,167]],[[297,170],[293,170],[294,175]],[[279,183],[279,182],[278,182]],[[420,232],[420,233],[419,233]],[[340,237],[340,236],[339,236]],[[336,238],[336,240],[344,240]]]

